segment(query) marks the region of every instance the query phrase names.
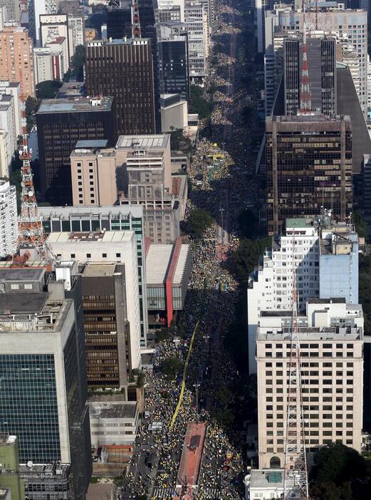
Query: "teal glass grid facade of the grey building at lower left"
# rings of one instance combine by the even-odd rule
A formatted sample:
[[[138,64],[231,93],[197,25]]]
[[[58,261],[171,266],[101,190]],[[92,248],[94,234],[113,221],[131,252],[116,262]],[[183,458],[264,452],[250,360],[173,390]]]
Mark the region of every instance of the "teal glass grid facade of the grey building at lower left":
[[[61,459],[53,354],[0,355],[0,428],[19,438],[20,462]]]

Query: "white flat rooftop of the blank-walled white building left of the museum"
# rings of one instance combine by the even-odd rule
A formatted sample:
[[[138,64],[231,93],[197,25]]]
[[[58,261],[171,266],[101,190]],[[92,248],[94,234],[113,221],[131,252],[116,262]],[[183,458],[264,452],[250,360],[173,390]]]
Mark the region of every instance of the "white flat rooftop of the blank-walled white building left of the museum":
[[[48,244],[53,243],[120,243],[131,241],[134,231],[92,231],[92,232],[55,232],[49,234]]]

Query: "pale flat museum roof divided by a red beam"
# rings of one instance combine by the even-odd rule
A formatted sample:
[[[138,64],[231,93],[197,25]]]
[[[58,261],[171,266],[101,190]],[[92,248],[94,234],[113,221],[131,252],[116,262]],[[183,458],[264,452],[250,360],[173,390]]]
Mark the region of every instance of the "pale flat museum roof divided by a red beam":
[[[172,263],[173,244],[151,244],[146,257],[147,286],[164,283]],[[173,285],[182,284],[185,266],[189,257],[189,245],[182,244],[177,266],[174,272]]]

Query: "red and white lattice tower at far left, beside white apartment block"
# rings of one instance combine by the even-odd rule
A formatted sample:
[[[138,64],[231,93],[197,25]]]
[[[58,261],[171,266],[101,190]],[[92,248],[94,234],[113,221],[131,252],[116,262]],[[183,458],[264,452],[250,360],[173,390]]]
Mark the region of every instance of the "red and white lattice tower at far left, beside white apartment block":
[[[28,150],[28,134],[26,127],[25,98],[22,96],[22,148],[19,157],[22,160],[22,193],[21,215],[19,217],[19,246],[30,246],[36,249],[41,259],[48,258],[46,236],[41,218],[38,215],[35,189],[33,188],[33,174],[31,170],[31,152]]]

